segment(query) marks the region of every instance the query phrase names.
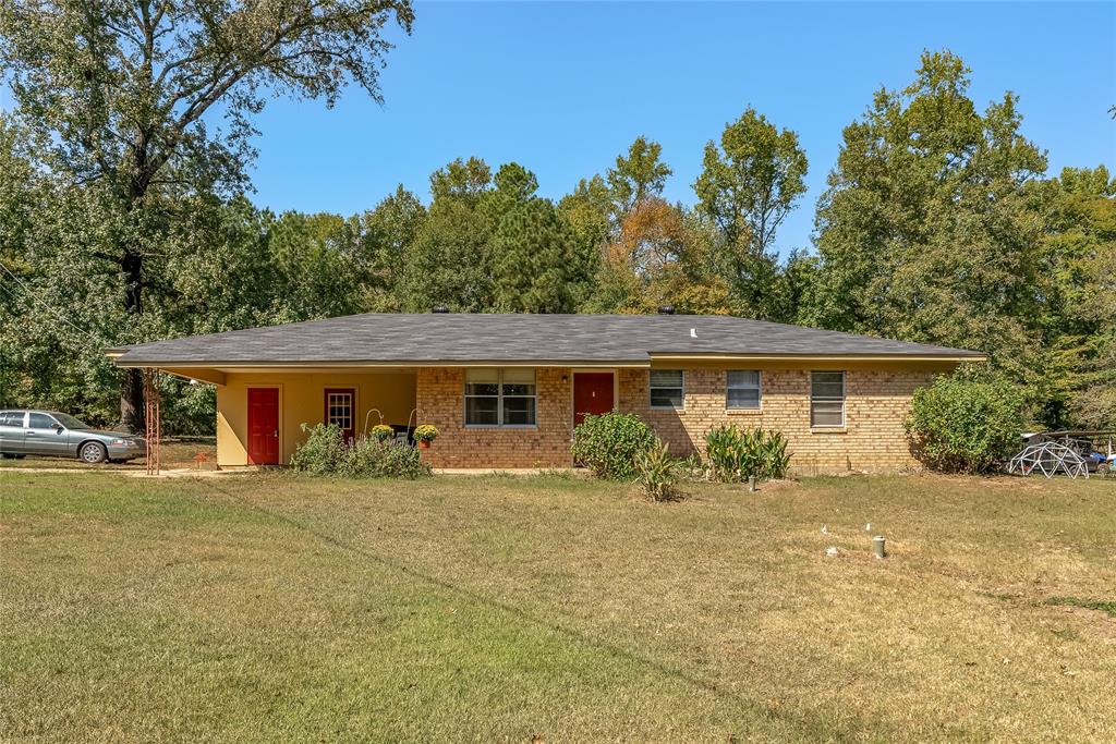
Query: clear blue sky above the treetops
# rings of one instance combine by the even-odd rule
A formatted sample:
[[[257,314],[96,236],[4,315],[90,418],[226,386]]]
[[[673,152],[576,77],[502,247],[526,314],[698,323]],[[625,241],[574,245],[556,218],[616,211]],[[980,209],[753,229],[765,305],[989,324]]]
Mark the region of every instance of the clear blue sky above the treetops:
[[[417,2],[383,74],[384,106],[350,88],[334,109],[272,100],[258,119],[254,201],[369,209],[397,183],[429,199],[459,156],[517,161],[558,197],[639,134],[693,202],[702,147],[752,105],[799,133],[810,191],[777,245],[808,247],[841,128],[881,86],[905,86],[924,48],[972,68],[983,107],[1021,97],[1023,132],[1065,165],[1116,171],[1116,4]]]

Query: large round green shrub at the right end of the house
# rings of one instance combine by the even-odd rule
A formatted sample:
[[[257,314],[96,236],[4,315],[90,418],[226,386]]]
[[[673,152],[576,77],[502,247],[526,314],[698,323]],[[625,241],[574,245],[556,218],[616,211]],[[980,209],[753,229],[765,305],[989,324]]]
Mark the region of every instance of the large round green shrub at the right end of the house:
[[[1011,383],[964,373],[915,390],[904,422],[911,451],[946,473],[984,473],[1020,446],[1023,400]]]

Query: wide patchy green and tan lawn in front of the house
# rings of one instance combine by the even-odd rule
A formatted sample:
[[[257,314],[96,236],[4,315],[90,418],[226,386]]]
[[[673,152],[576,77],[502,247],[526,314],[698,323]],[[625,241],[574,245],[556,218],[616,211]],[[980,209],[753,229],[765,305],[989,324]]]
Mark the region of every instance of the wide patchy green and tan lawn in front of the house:
[[[6,741],[1116,738],[1110,480],[8,470],[0,509]]]

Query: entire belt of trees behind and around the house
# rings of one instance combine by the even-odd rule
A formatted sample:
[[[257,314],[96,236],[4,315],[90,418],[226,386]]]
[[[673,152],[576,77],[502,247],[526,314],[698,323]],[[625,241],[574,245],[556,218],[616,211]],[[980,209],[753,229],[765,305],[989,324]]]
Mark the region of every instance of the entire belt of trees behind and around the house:
[[[910,86],[877,91],[845,128],[816,251],[780,260],[807,162],[792,131],[753,109],[706,146],[693,205],[663,197],[671,168],[638,137],[556,201],[523,165],[469,157],[435,171],[429,194],[400,186],[359,214],[275,214],[246,194],[257,93],[328,102],[353,80],[378,96],[379,28],[406,26],[410,8],[119,0],[81,11],[81,26],[83,8],[0,10],[18,93],[0,113],[0,405],[113,423],[121,374],[103,350],[122,342],[435,306],[672,305],[981,349],[1036,423],[1116,426],[1116,181],[1104,167],[1048,177],[1016,97],[979,110],[947,51],[926,52]],[[358,28],[338,28],[341,12]],[[260,50],[299,18],[305,32],[277,47],[291,59]],[[157,31],[150,50],[128,38],[144,28]],[[64,31],[78,42],[59,51]],[[377,39],[345,52],[371,67],[311,51],[354,33]],[[203,59],[175,65],[190,54]],[[203,69],[235,81],[173,134],[189,108],[175,96],[210,79]],[[211,429],[212,389],[169,385],[164,422]]]

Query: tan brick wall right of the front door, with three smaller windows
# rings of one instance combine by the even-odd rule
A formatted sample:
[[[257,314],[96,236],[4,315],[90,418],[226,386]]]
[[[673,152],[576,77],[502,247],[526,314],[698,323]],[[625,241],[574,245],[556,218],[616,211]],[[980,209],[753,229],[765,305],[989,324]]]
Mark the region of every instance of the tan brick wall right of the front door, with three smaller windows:
[[[676,455],[700,450],[705,432],[733,423],[741,428],[781,431],[789,441],[793,468],[817,473],[913,465],[903,418],[915,388],[929,385],[934,374],[846,371],[846,426],[836,431],[810,428],[810,373],[805,369],[762,370],[762,407],[758,412],[725,409],[724,369],[686,369],[682,410],[650,408],[646,369],[623,369],[619,375],[618,408],[646,421]]]

